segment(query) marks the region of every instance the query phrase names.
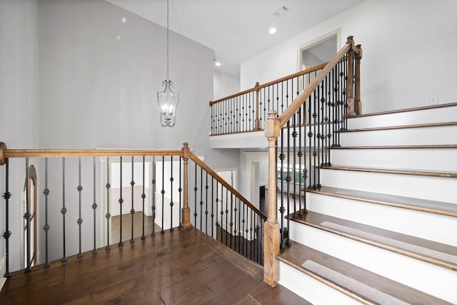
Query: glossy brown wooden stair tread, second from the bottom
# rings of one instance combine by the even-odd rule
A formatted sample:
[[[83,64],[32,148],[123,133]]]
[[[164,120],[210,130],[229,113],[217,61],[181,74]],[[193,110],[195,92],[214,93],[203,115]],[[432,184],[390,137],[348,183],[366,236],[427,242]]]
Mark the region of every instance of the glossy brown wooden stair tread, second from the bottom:
[[[372,227],[318,212],[290,214],[292,221],[323,229],[327,232],[397,252],[424,262],[457,270],[457,247],[411,235]],[[450,232],[451,234],[451,232]]]

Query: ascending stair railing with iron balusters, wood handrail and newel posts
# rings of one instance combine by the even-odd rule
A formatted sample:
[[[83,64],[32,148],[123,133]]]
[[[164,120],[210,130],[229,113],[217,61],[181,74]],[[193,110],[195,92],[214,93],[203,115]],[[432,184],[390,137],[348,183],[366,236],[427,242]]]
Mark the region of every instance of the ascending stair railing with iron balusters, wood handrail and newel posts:
[[[278,283],[276,256],[291,244],[287,215],[307,212],[306,190],[321,187],[320,170],[331,166],[330,149],[340,145],[339,133],[347,129],[348,117],[361,113],[361,56],[361,46],[356,46],[349,36],[336,56],[313,75],[300,93],[297,91],[293,102],[279,110],[282,113],[278,113],[278,106],[268,112],[265,136],[269,190],[265,235],[278,234],[280,239],[278,247],[274,242],[265,245],[264,261],[268,269],[264,269],[263,278],[268,284]],[[278,224],[273,223],[276,219]]]

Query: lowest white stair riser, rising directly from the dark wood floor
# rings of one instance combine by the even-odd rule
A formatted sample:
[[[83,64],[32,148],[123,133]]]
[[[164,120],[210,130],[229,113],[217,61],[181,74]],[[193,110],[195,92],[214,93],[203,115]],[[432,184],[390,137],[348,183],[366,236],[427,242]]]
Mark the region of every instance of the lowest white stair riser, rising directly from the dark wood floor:
[[[279,263],[279,284],[312,304],[360,304],[330,286],[299,272],[283,262]]]

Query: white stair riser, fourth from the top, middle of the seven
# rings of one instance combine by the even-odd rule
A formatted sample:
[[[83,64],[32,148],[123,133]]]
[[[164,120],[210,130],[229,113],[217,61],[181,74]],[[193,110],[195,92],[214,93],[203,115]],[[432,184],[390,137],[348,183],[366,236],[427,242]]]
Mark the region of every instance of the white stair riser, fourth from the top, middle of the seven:
[[[321,170],[321,185],[457,203],[457,178]]]

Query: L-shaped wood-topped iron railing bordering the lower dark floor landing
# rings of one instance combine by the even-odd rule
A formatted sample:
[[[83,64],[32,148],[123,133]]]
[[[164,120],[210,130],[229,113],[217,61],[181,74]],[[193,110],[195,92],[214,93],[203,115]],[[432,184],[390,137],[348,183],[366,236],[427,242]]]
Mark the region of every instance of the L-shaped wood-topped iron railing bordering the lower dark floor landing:
[[[11,219],[9,215],[11,198],[17,201],[21,197],[10,193],[19,189],[17,185],[11,188],[10,158],[18,159],[14,164],[20,168],[14,168],[15,172],[24,173],[21,158],[26,167],[27,204],[21,219]],[[103,246],[109,251],[112,239],[116,239],[116,247],[124,247],[126,240],[134,243],[136,238],[146,239],[146,229],[154,237],[156,231],[164,234],[166,230],[173,232],[192,225],[248,259],[263,262],[266,217],[190,153],[187,145],[182,150],[163,151],[6,150],[6,145],[0,143],[0,165],[3,164],[6,277],[11,276],[11,221],[24,222],[24,233],[14,234],[24,234],[25,249],[19,254],[24,256],[24,266],[19,268],[25,272],[36,264],[49,267],[56,259],[66,262],[67,255],[80,258],[88,251],[96,255]],[[43,172],[39,185],[44,188],[37,196],[29,192],[29,165]],[[37,200],[36,208],[29,205],[32,200]],[[14,202],[18,206],[19,203]],[[35,232],[32,223],[40,212],[44,213],[39,215],[44,227]],[[193,217],[186,220],[186,213]],[[123,222],[123,214],[130,221]],[[39,251],[34,250],[34,244]]]

